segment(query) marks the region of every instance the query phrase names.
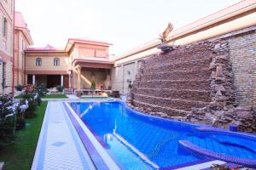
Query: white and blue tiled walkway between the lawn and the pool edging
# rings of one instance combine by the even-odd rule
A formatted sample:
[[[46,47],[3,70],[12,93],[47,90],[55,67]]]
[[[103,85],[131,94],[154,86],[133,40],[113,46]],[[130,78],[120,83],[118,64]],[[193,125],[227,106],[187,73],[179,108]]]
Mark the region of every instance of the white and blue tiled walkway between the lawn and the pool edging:
[[[32,170],[95,169],[61,102],[49,102]]]

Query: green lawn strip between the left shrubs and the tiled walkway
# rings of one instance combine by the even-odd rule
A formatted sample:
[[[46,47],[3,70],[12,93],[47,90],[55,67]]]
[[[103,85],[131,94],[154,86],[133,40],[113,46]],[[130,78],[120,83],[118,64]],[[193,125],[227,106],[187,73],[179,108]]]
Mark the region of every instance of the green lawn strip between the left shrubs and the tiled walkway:
[[[47,102],[43,101],[38,107],[37,116],[26,119],[27,126],[16,131],[15,143],[0,150],[0,160],[4,161],[4,170],[31,169],[46,106]]]

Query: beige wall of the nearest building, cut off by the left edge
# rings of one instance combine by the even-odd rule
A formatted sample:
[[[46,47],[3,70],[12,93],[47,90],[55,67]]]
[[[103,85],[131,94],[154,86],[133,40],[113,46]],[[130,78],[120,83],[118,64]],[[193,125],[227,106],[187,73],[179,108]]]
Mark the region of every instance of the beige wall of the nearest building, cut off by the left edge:
[[[4,64],[0,65],[0,94],[9,94],[12,92],[12,59],[13,59],[13,22],[14,22],[14,1],[0,1],[0,58]],[[3,36],[3,23],[6,21],[6,37]],[[2,88],[3,65],[5,67],[5,88]]]

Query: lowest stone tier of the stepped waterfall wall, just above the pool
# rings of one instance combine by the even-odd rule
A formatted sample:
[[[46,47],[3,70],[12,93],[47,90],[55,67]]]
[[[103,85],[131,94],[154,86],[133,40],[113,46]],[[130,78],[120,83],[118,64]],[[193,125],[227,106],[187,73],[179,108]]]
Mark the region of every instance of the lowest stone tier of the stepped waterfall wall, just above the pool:
[[[137,101],[136,99],[133,100],[133,104],[139,108],[151,109],[153,112],[166,113],[168,116],[186,116],[187,114],[189,114],[189,111],[177,110],[170,107],[162,107],[159,105],[151,105],[148,103]]]

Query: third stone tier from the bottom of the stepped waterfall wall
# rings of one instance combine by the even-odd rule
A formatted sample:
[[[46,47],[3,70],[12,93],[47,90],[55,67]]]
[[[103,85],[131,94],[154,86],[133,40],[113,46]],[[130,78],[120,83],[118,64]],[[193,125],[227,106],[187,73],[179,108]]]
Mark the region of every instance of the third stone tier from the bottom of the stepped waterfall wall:
[[[136,94],[168,99],[190,99],[203,102],[211,101],[210,91],[208,90],[187,90],[180,88],[137,88]]]

